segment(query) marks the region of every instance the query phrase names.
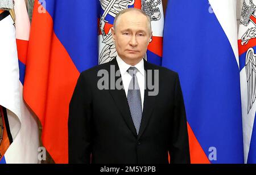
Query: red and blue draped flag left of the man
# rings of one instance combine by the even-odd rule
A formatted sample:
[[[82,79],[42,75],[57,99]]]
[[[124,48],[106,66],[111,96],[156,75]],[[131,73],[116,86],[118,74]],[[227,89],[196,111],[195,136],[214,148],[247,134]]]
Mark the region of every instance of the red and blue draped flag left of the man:
[[[24,100],[55,163],[68,163],[68,108],[81,71],[98,64],[99,1],[35,0]]]

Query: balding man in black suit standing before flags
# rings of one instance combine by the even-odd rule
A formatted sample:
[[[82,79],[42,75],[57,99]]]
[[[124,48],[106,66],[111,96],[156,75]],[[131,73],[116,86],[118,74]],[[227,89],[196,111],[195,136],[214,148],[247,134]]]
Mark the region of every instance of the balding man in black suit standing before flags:
[[[143,11],[115,17],[117,58],[82,72],[73,92],[69,163],[164,164],[168,153],[171,163],[190,163],[179,77],[143,59],[151,36]]]

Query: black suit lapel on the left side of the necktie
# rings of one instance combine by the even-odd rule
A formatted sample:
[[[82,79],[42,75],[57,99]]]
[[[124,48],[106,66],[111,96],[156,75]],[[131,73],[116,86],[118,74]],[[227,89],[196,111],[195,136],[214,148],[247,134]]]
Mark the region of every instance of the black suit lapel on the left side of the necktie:
[[[110,65],[114,65],[115,71],[119,70],[116,59],[113,59],[110,62]],[[110,69],[109,69],[109,72],[110,72]],[[115,76],[115,82],[117,82],[118,78],[121,78],[121,75]],[[125,94],[125,89],[122,88],[122,89],[118,90],[117,88],[114,88],[114,89],[109,89],[109,92],[110,92],[110,95],[113,97],[115,105],[117,105],[117,108],[121,112],[122,117],[125,120],[127,126],[129,127],[129,129],[131,130],[133,135],[137,138],[137,132],[136,132],[135,126],[133,124],[133,119],[131,118],[130,108],[129,108],[129,104],[128,104],[127,97]]]

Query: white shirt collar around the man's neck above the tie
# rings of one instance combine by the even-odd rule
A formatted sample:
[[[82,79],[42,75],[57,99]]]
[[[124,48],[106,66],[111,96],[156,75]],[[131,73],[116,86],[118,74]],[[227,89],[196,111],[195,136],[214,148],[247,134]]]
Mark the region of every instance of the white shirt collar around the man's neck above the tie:
[[[137,63],[137,65],[131,66],[131,65],[128,65],[125,61],[122,60],[122,58],[120,58],[117,55],[117,63],[118,63],[118,67],[119,67],[121,75],[125,74],[125,72],[130,67],[136,67],[139,70],[139,72],[141,72],[141,74],[144,76],[144,61],[143,61],[143,58],[141,59],[140,62]]]

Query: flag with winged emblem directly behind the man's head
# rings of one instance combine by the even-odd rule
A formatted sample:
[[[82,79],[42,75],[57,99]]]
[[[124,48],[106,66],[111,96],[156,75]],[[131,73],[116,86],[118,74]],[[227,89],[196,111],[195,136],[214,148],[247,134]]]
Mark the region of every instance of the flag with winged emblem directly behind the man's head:
[[[126,8],[139,8],[151,19],[152,38],[148,45],[145,58],[148,62],[161,65],[163,46],[164,14],[161,0],[100,0],[99,25],[99,59],[105,63],[117,56],[110,28],[113,27],[115,15]]]

